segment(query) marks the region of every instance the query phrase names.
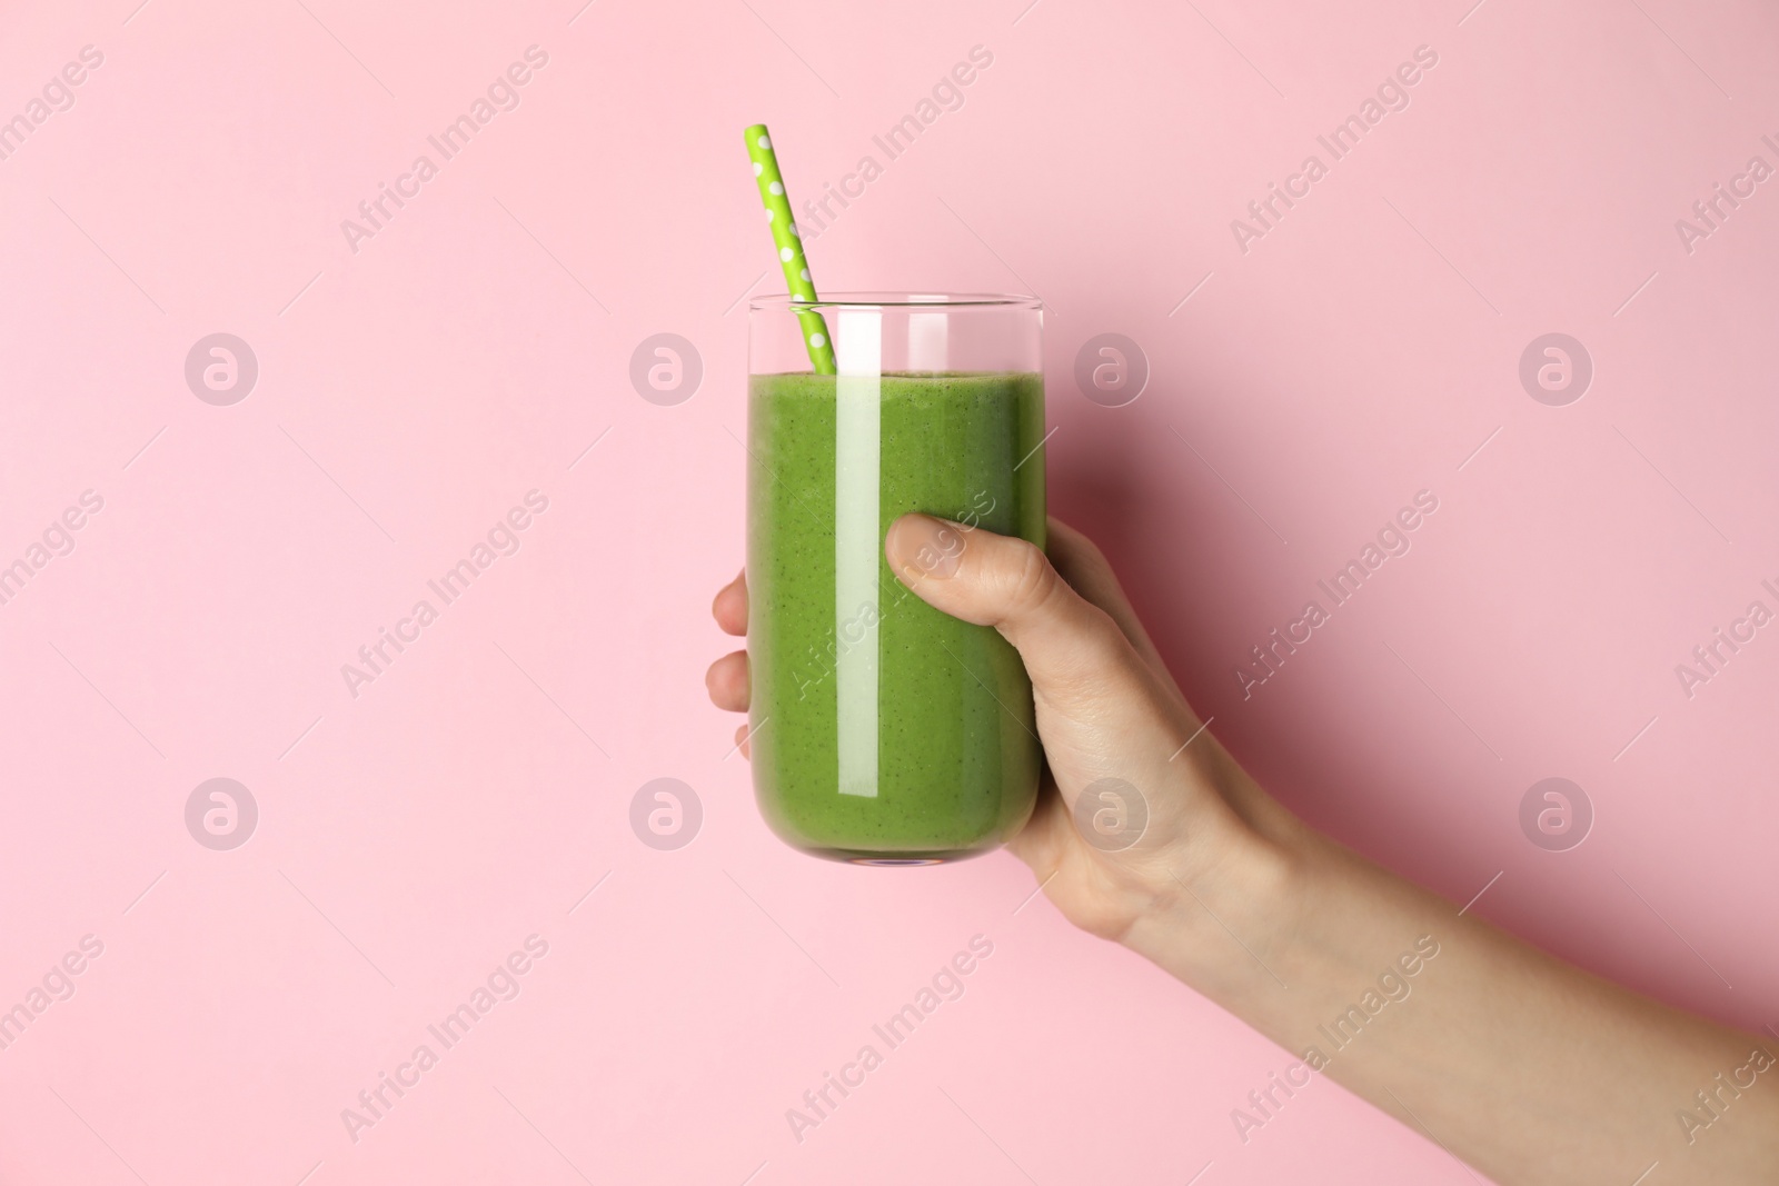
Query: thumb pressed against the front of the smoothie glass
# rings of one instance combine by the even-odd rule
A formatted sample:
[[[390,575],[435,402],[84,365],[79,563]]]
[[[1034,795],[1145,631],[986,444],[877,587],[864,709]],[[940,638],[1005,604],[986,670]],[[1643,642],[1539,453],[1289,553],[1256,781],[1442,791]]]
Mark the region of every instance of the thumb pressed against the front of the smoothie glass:
[[[890,525],[884,553],[922,601],[998,629],[1025,660],[1037,695],[1064,711],[1091,708],[1139,677],[1142,660],[1117,622],[1028,541],[907,514]]]

